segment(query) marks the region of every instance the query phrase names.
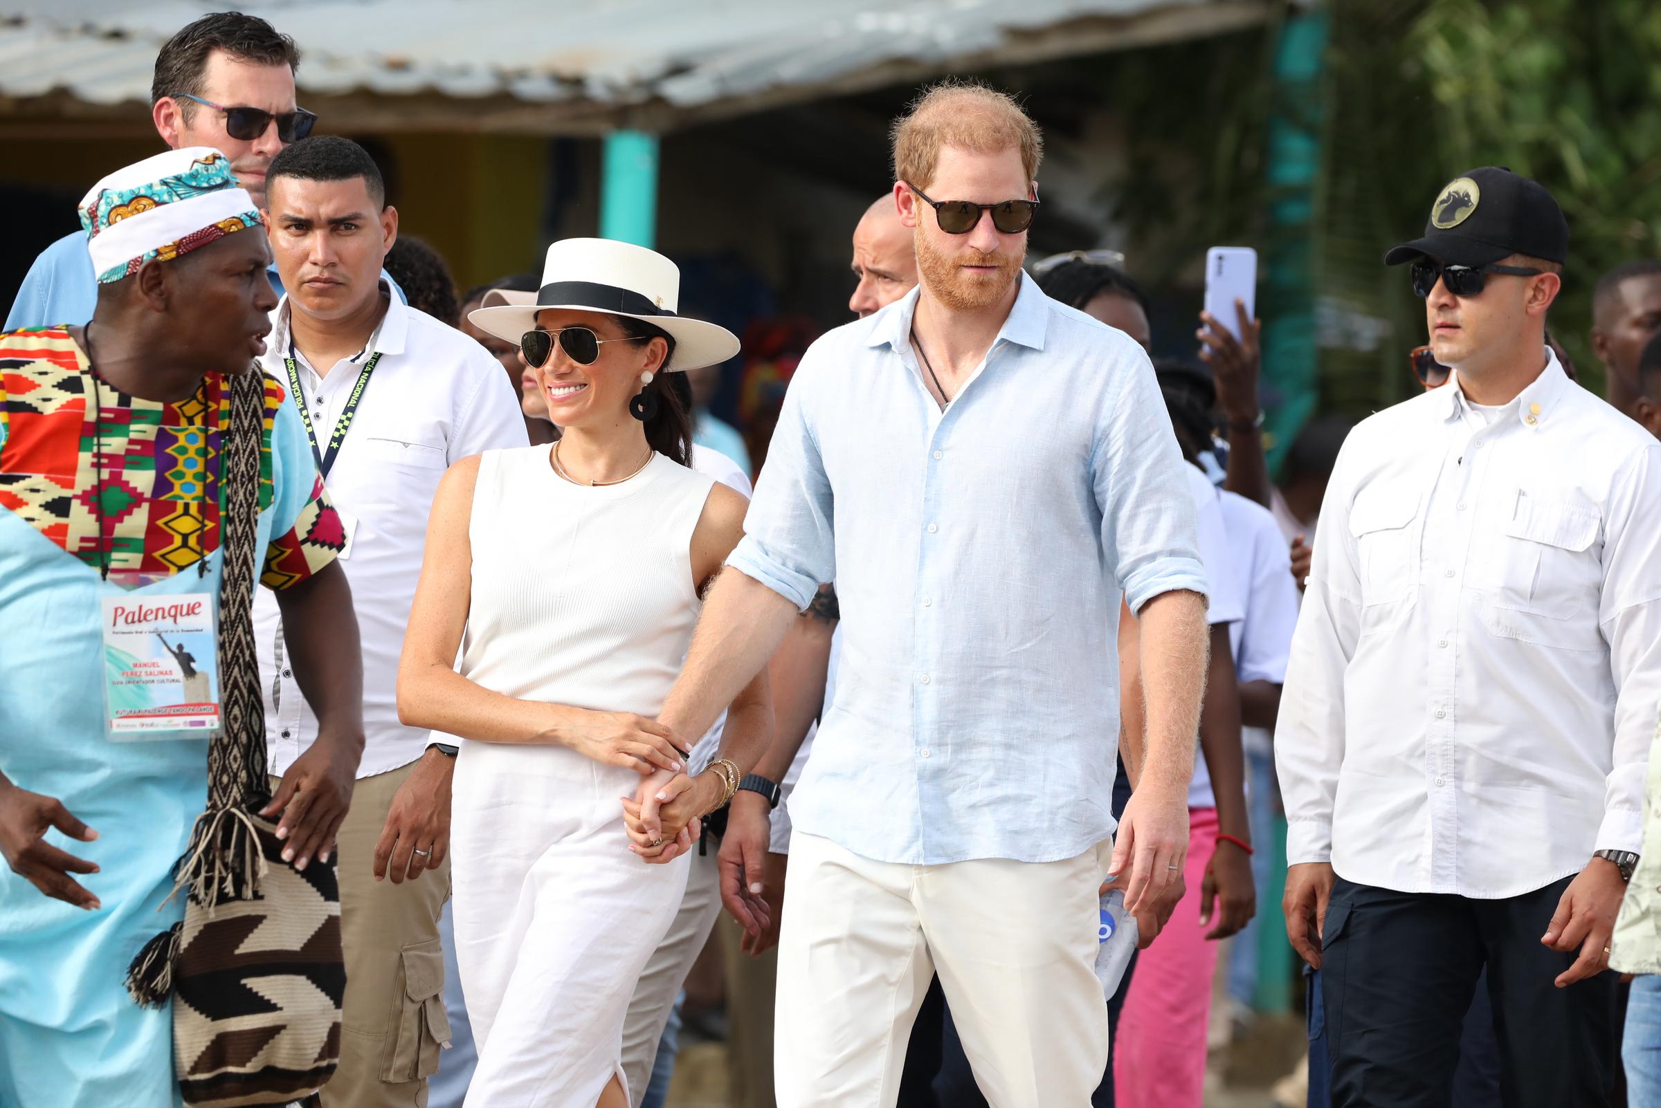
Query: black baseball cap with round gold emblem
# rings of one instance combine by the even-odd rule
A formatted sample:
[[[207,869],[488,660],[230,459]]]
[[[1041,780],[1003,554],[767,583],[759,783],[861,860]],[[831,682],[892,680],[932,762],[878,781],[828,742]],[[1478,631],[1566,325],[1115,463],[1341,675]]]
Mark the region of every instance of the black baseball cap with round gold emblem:
[[[1392,247],[1384,264],[1428,257],[1478,269],[1512,254],[1561,264],[1568,257],[1568,221],[1540,182],[1483,166],[1442,186],[1423,237]]]

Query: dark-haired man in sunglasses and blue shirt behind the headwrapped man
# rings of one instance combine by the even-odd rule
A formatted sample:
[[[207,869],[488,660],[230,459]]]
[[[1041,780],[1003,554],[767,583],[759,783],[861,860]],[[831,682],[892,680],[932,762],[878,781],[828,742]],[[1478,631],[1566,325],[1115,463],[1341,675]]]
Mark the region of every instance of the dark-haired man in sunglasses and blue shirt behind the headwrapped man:
[[[231,159],[254,202],[266,202],[271,159],[311,134],[317,116],[294,104],[301,51],[271,23],[241,12],[214,12],[184,27],[156,55],[149,116],[161,141],[211,146]],[[277,267],[271,284],[281,294]],[[402,299],[404,292],[394,284]],[[86,237],[75,231],[30,265],[7,315],[7,330],[85,323],[93,315],[98,280],[86,260]]]

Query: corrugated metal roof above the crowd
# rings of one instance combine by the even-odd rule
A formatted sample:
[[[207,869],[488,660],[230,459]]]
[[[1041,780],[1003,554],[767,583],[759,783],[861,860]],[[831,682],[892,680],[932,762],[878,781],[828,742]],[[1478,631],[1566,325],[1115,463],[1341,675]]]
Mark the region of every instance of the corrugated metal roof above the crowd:
[[[0,95],[145,101],[159,45],[218,3],[22,0],[0,8]],[[1184,36],[1257,22],[1269,0],[267,0],[243,5],[304,51],[301,98],[507,96],[671,109],[857,83],[884,66],[997,56],[1035,33],[1118,20]],[[1129,23],[1126,23],[1129,27]],[[1149,33],[1139,32],[1139,41]],[[1048,53],[1065,53],[1050,46]],[[801,98],[801,96],[791,96]]]

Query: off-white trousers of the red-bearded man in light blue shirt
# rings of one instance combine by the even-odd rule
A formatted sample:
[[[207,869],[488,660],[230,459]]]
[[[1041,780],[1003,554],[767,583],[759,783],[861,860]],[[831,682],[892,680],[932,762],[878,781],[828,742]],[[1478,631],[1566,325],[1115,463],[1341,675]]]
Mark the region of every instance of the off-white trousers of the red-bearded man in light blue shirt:
[[[779,1108],[892,1108],[932,974],[992,1108],[1088,1108],[1108,1065],[1096,889],[1058,863],[900,866],[796,831],[779,935]]]

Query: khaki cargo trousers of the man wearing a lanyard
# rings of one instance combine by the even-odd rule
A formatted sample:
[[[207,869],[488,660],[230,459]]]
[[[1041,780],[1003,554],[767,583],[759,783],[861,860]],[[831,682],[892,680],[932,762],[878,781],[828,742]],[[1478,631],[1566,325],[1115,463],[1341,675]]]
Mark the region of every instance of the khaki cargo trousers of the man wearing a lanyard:
[[[439,940],[450,859],[402,884],[374,872],[392,798],[414,768],[360,778],[336,836],[345,1005],[341,1068],[322,1088],[322,1108],[425,1108],[427,1078],[450,1042]]]

